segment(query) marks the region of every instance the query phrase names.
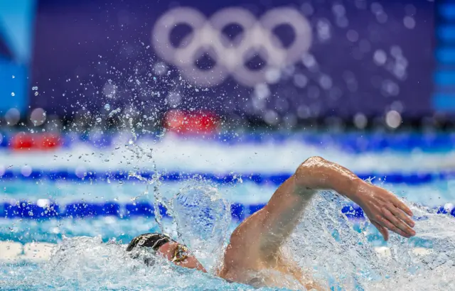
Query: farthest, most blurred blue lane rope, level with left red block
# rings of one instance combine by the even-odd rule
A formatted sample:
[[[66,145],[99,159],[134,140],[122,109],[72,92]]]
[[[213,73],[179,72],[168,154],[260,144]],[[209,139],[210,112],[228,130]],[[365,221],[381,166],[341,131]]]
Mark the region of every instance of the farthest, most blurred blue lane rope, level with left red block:
[[[14,134],[0,132],[0,149],[11,148],[11,139]],[[139,140],[159,141],[163,138],[162,132],[138,134]],[[200,136],[181,136],[183,139],[200,141]],[[77,143],[87,143],[97,148],[109,148],[118,139],[114,133],[63,133],[59,141],[63,148],[70,148]],[[413,148],[428,152],[453,150],[455,143],[454,133],[215,133],[205,136],[205,141],[215,141],[223,145],[285,143],[299,141],[311,146],[336,146],[350,153],[382,152],[383,150],[397,150],[409,153]]]

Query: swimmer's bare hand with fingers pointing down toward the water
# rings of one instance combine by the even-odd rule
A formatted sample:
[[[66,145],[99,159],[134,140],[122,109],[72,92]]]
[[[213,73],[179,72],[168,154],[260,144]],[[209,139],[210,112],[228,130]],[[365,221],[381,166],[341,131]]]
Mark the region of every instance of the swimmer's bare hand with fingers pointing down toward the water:
[[[371,223],[389,239],[389,232],[410,238],[415,236],[414,221],[410,219],[412,211],[394,194],[364,181],[358,182],[357,191],[352,197],[368,216]]]

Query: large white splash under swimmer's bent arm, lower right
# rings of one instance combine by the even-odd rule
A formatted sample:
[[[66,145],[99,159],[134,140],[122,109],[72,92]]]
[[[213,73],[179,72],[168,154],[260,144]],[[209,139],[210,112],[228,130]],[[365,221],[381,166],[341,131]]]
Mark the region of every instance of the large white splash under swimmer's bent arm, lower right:
[[[375,250],[378,232],[368,221],[353,224],[341,214],[347,201],[331,192],[321,192],[311,202],[287,248],[302,268],[311,268],[314,278],[341,290],[446,290],[455,283],[455,219],[412,205],[413,239],[391,235],[390,255]],[[419,246],[432,250],[416,253]],[[422,286],[422,278],[432,281]],[[425,289],[427,288],[427,289]]]

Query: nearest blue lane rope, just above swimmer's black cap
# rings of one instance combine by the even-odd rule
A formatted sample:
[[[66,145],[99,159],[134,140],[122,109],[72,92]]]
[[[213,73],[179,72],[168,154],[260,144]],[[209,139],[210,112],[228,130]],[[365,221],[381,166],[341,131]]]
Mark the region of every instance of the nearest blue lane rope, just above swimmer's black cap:
[[[45,202],[40,201],[45,200]],[[148,202],[136,202],[119,204],[117,202],[105,202],[100,204],[75,202],[66,205],[58,205],[47,199],[40,199],[37,203],[20,201],[15,204],[0,204],[0,218],[5,219],[77,219],[94,218],[100,216],[116,216],[129,219],[134,216],[153,217],[154,205]],[[247,216],[262,209],[265,204],[240,204],[230,206],[232,219],[242,220]],[[166,207],[159,205],[161,216],[168,216]],[[357,205],[349,204],[341,209],[349,219],[363,219],[363,210]],[[449,214],[455,217],[455,208],[439,207],[438,214]]]

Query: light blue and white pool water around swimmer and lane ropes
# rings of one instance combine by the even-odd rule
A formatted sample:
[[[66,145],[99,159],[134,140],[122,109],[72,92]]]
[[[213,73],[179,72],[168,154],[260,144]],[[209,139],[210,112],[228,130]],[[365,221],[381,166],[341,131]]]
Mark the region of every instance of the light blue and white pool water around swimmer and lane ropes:
[[[281,146],[286,148],[286,145]],[[208,148],[206,144],[200,146],[204,147]],[[274,148],[259,146],[256,152],[250,153],[254,147],[245,146],[245,154],[241,154],[242,146],[236,147],[231,157],[225,155],[217,158],[221,151],[212,146],[210,153],[201,158],[201,151],[188,146],[186,165],[190,165],[190,162],[197,164],[202,159],[203,166],[199,170],[208,172],[210,163],[207,160],[212,159],[215,163],[211,172],[220,172],[220,165],[223,169],[232,167],[235,172],[241,169],[242,163],[250,172],[290,172],[305,159],[304,154],[300,154],[302,158],[299,161],[284,155],[274,166],[273,160],[267,160]],[[289,147],[294,147],[296,152],[301,146]],[[68,157],[69,164],[65,165],[87,169],[86,164],[73,163],[74,160],[70,158],[70,155],[77,156],[80,148],[76,150],[78,153],[70,153],[71,150],[75,149],[58,154],[59,157]],[[103,149],[102,152],[109,153],[109,149]],[[161,151],[167,155],[165,152]],[[308,153],[324,156],[324,153],[335,155],[340,152],[311,148]],[[262,162],[257,165],[251,160],[242,162],[247,155]],[[259,155],[259,158],[255,155]],[[403,165],[404,168],[411,172],[419,170],[419,163],[413,160],[415,155],[384,154],[387,163],[378,165],[378,168],[383,172],[397,172],[406,160],[410,160],[410,163]],[[416,160],[420,159],[424,170],[431,172],[438,170],[437,165],[431,162],[443,160],[444,153],[418,155]],[[346,160],[347,157],[353,157],[347,162],[349,168],[375,172],[381,153],[346,154],[338,159]],[[45,168],[46,158],[33,158],[27,166]],[[106,163],[112,163],[114,159],[122,160],[116,154]],[[161,164],[156,160],[149,162],[150,165],[146,166],[149,169],[153,169],[152,165],[156,163],[159,168],[167,170],[171,170],[175,163],[165,160]],[[81,163],[87,163],[92,168],[97,165],[102,169],[119,166],[116,162],[107,167],[101,161],[95,163],[93,160],[92,164],[90,160]],[[141,163],[146,165],[144,160]],[[405,197],[417,221],[416,238],[407,240],[392,235],[388,243],[382,241],[368,221],[350,220],[341,213],[341,209],[348,204],[346,199],[332,192],[321,192],[304,214],[285,250],[321,285],[332,290],[394,290],[397,286],[400,290],[449,290],[455,284],[455,219],[450,216],[453,208],[451,203],[455,201],[455,190],[451,187],[454,181],[440,179],[411,185],[375,180],[398,196]],[[93,182],[16,178],[2,181],[1,186],[0,204],[23,203],[26,200],[34,204],[55,203],[60,209],[65,209],[65,205],[75,202],[112,202],[120,207],[119,214],[115,215],[0,218],[0,241],[10,243],[9,246],[17,246],[11,243],[18,246],[50,243],[50,246],[55,246],[49,258],[30,256],[23,247],[15,258],[0,260],[2,290],[253,290],[247,285],[225,282],[213,274],[220,263],[219,258],[229,234],[239,223],[232,220],[231,204],[264,204],[277,187],[274,183],[258,184],[248,180],[218,184],[198,179],[186,182]],[[154,215],[126,215],[126,205],[151,203],[156,199],[168,206],[171,216],[156,221]],[[438,214],[434,207],[444,205],[449,214]],[[0,212],[4,210],[0,209]],[[249,214],[245,212],[245,216]],[[202,217],[207,219],[200,219]],[[123,251],[124,243],[138,234],[158,231],[159,223],[162,224],[161,229],[191,246],[210,271],[209,274],[178,268],[159,258],[156,258],[156,264],[152,267],[146,267],[127,256]],[[383,249],[385,253],[378,253],[378,247],[387,247]],[[0,246],[0,251],[6,253],[11,252],[11,249]]]

